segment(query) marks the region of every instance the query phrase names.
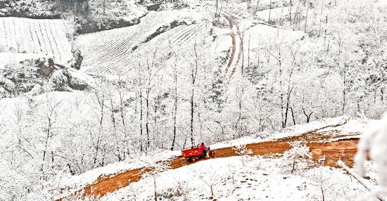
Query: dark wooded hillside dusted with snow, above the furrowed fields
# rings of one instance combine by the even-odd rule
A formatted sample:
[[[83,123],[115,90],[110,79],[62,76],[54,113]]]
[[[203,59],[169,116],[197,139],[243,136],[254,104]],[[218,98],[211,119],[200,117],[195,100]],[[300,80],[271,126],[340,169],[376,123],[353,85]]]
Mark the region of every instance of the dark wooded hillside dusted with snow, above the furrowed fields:
[[[68,19],[80,34],[133,25],[145,13],[146,6],[131,0],[0,1],[0,17]]]

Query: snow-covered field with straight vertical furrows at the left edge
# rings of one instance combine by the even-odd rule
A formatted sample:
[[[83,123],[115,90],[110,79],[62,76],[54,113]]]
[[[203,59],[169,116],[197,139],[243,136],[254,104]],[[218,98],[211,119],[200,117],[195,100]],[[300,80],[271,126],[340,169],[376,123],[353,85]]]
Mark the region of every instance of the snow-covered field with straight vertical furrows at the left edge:
[[[72,56],[63,20],[0,18],[0,46],[3,51],[50,56],[57,63]]]

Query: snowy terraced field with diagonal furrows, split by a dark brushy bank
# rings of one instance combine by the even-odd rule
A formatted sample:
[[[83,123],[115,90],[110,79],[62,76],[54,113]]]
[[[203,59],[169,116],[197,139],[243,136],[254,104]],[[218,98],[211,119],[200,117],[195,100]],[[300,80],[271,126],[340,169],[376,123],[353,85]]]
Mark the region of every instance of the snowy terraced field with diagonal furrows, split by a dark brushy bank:
[[[139,55],[156,47],[163,52],[170,44],[187,45],[205,32],[205,23],[185,25],[178,15],[151,12],[138,25],[80,36],[77,44],[84,57],[81,70],[91,74],[127,73]]]

